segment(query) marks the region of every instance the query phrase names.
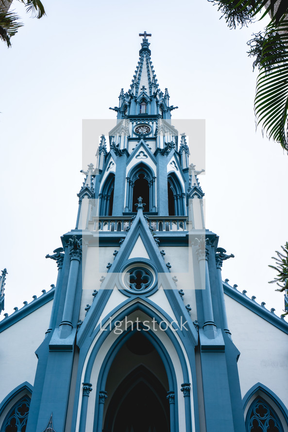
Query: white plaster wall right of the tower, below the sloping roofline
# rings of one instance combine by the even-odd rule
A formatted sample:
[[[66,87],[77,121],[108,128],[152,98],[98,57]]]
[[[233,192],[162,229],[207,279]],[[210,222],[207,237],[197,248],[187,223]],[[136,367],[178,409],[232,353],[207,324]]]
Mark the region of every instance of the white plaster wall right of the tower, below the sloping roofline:
[[[288,406],[288,335],[227,295],[225,302],[232,340],[241,353],[242,397],[260,382]]]

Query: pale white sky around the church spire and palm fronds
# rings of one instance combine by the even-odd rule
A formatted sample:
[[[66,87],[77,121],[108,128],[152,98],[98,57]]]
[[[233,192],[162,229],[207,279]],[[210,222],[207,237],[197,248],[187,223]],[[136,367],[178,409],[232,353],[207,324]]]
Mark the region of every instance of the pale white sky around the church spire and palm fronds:
[[[246,54],[264,23],[229,30],[206,0],[43,1],[41,20],[24,16],[16,2],[25,26],[11,49],[0,44],[5,312],[56,283],[56,265],[45,255],[75,227],[82,119],[116,118],[108,108],[129,88],[138,33],[146,30],[160,88],[179,107],[173,118],[206,120],[206,227],[235,254],[223,279],[280,315],[284,299],[268,284],[275,276],[268,265],[288,240],[288,156],[255,133],[256,73]],[[96,137],[95,152],[97,145]]]

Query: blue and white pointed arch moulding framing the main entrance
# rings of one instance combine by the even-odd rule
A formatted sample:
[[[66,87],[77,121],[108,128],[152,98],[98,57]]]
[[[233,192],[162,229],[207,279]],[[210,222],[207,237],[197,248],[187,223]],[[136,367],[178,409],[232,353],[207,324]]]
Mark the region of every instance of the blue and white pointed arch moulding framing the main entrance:
[[[149,300],[147,301],[147,303],[149,303]],[[109,316],[107,315],[102,320],[102,327],[101,327],[102,330],[105,328],[105,326],[107,326],[107,328],[105,331],[101,332],[98,338],[95,338],[95,336],[99,333],[100,324],[95,329],[93,333],[94,334],[93,340],[95,342],[93,342],[93,344],[89,348],[89,351],[87,351],[87,353],[89,352],[89,355],[85,359],[85,369],[83,369],[81,377],[79,377],[79,383],[80,382],[90,383],[92,381],[92,385],[93,385],[93,392],[91,393],[92,399],[89,398],[89,404],[87,403],[88,402],[87,399],[85,400],[82,399],[81,402],[81,407],[79,411],[80,417],[78,417],[80,422],[79,432],[85,431],[86,418],[88,417],[91,421],[91,415],[94,415],[94,422],[95,422],[94,432],[102,432],[103,406],[104,406],[105,399],[107,398],[105,394],[107,375],[109,373],[111,364],[114,361],[115,356],[117,355],[119,349],[123,346],[123,344],[125,344],[127,339],[129,339],[129,337],[133,335],[133,332],[136,332],[136,329],[134,329],[134,331],[128,329],[127,331],[124,331],[123,333],[117,335],[116,337],[115,334],[113,334],[115,328],[115,322],[123,321],[125,319],[125,316],[127,316],[127,319],[132,319],[131,318],[132,313],[138,311],[142,311],[147,316],[147,318],[150,318],[151,320],[152,318],[154,318],[155,322],[158,323],[158,325],[161,321],[165,319],[171,324],[170,321],[172,321],[172,318],[167,319],[166,318],[167,314],[165,313],[164,316],[163,314],[162,315],[158,314],[157,311],[152,310],[150,308],[150,304],[146,304],[146,301],[144,303],[140,299],[137,300],[136,302],[135,301],[127,302],[126,307],[121,308],[120,312],[119,310],[111,311]],[[185,354],[181,348],[180,341],[178,340],[178,337],[181,338],[181,336],[178,335],[176,337],[175,332],[173,332],[171,328],[169,328],[169,326],[167,331],[161,333],[163,333],[163,336],[161,334],[159,338],[158,334],[156,334],[156,332],[153,332],[150,329],[148,332],[145,332],[145,336],[147,337],[147,339],[149,339],[149,341],[152,343],[154,348],[157,350],[165,366],[165,370],[167,372],[167,378],[169,381],[169,391],[175,393],[175,404],[174,403],[170,404],[170,410],[172,410],[172,414],[170,414],[171,432],[179,432],[179,421],[180,421],[180,417],[178,417],[179,403],[185,412],[185,415],[181,417],[180,427],[182,425],[183,427],[186,427],[186,432],[192,432],[191,429],[192,412],[191,412],[190,391],[188,391],[187,394],[181,393],[181,395],[183,394],[183,396],[186,397],[183,397],[180,400],[178,400],[177,397],[179,388],[182,388],[181,387],[182,383],[184,385],[184,383],[191,382],[191,378],[188,372],[188,364],[185,359]],[[169,351],[167,350],[168,348],[166,347],[167,345],[166,340],[168,339],[171,342],[169,344]],[[102,365],[100,369],[99,369],[99,365]],[[177,370],[175,369],[175,367],[177,368]],[[193,392],[191,393],[191,395],[193,395]]]

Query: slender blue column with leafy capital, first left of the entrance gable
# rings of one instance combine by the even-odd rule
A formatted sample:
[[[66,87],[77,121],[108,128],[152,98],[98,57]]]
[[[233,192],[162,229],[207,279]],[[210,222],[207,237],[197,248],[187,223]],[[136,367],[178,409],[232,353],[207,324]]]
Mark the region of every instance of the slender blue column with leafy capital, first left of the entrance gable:
[[[72,330],[72,314],[73,314],[73,306],[76,292],[76,284],[78,278],[78,270],[79,264],[82,258],[82,239],[77,240],[76,235],[73,235],[72,238],[69,239],[69,245],[71,246],[69,256],[71,259],[68,283],[67,283],[67,291],[66,298],[64,304],[64,311],[61,326],[61,335],[60,337],[67,337]]]

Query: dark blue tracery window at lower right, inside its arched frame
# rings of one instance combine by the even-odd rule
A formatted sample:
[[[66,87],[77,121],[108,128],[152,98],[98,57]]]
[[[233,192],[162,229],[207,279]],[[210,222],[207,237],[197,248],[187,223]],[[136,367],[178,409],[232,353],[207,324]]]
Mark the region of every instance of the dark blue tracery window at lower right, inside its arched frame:
[[[246,416],[247,432],[284,432],[278,415],[268,402],[254,399]]]

